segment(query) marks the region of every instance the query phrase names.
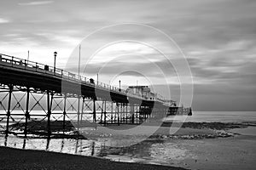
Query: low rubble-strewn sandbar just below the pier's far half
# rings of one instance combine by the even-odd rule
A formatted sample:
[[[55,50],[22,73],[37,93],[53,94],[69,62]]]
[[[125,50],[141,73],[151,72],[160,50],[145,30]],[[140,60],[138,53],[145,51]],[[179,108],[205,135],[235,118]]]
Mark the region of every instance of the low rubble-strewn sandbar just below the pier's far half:
[[[246,128],[246,123],[222,122],[164,122],[161,126],[149,125],[108,125],[99,126],[96,130],[81,129],[80,132],[90,138],[115,138],[137,136],[149,139],[213,139],[233,136],[229,129]]]

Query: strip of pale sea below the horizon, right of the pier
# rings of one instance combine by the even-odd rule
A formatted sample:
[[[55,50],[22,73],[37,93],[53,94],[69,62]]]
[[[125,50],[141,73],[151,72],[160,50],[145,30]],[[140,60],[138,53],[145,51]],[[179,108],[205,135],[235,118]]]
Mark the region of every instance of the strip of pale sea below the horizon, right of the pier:
[[[176,122],[256,122],[256,111],[193,111],[193,116],[168,116]]]

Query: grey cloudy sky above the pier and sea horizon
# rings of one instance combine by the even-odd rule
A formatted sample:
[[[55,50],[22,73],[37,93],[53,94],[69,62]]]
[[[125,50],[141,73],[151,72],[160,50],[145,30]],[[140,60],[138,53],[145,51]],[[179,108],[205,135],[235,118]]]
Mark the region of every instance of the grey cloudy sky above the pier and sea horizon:
[[[255,8],[254,0],[1,1],[0,53],[26,59],[29,50],[30,60],[53,65],[57,51],[56,66],[78,72],[81,44],[84,76],[149,84],[176,100],[181,78],[192,80],[185,57],[195,111],[256,111]]]

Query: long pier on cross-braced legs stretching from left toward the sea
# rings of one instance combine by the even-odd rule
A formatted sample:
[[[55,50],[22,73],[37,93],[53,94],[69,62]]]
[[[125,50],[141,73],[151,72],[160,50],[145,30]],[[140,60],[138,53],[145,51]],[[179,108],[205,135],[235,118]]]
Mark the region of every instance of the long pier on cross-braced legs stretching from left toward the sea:
[[[6,54],[0,54],[0,88],[0,130],[7,134],[42,128],[50,134],[60,127],[65,131],[70,122],[77,128],[140,124],[177,109],[175,101],[157,94],[149,99]]]

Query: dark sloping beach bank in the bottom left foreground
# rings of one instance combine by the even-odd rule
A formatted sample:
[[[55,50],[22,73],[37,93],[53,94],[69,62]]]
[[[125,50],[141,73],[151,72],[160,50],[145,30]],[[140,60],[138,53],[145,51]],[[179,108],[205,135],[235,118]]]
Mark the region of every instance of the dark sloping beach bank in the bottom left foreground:
[[[184,169],[139,163],[125,163],[105,159],[74,156],[43,150],[19,150],[0,147],[0,169]]]

